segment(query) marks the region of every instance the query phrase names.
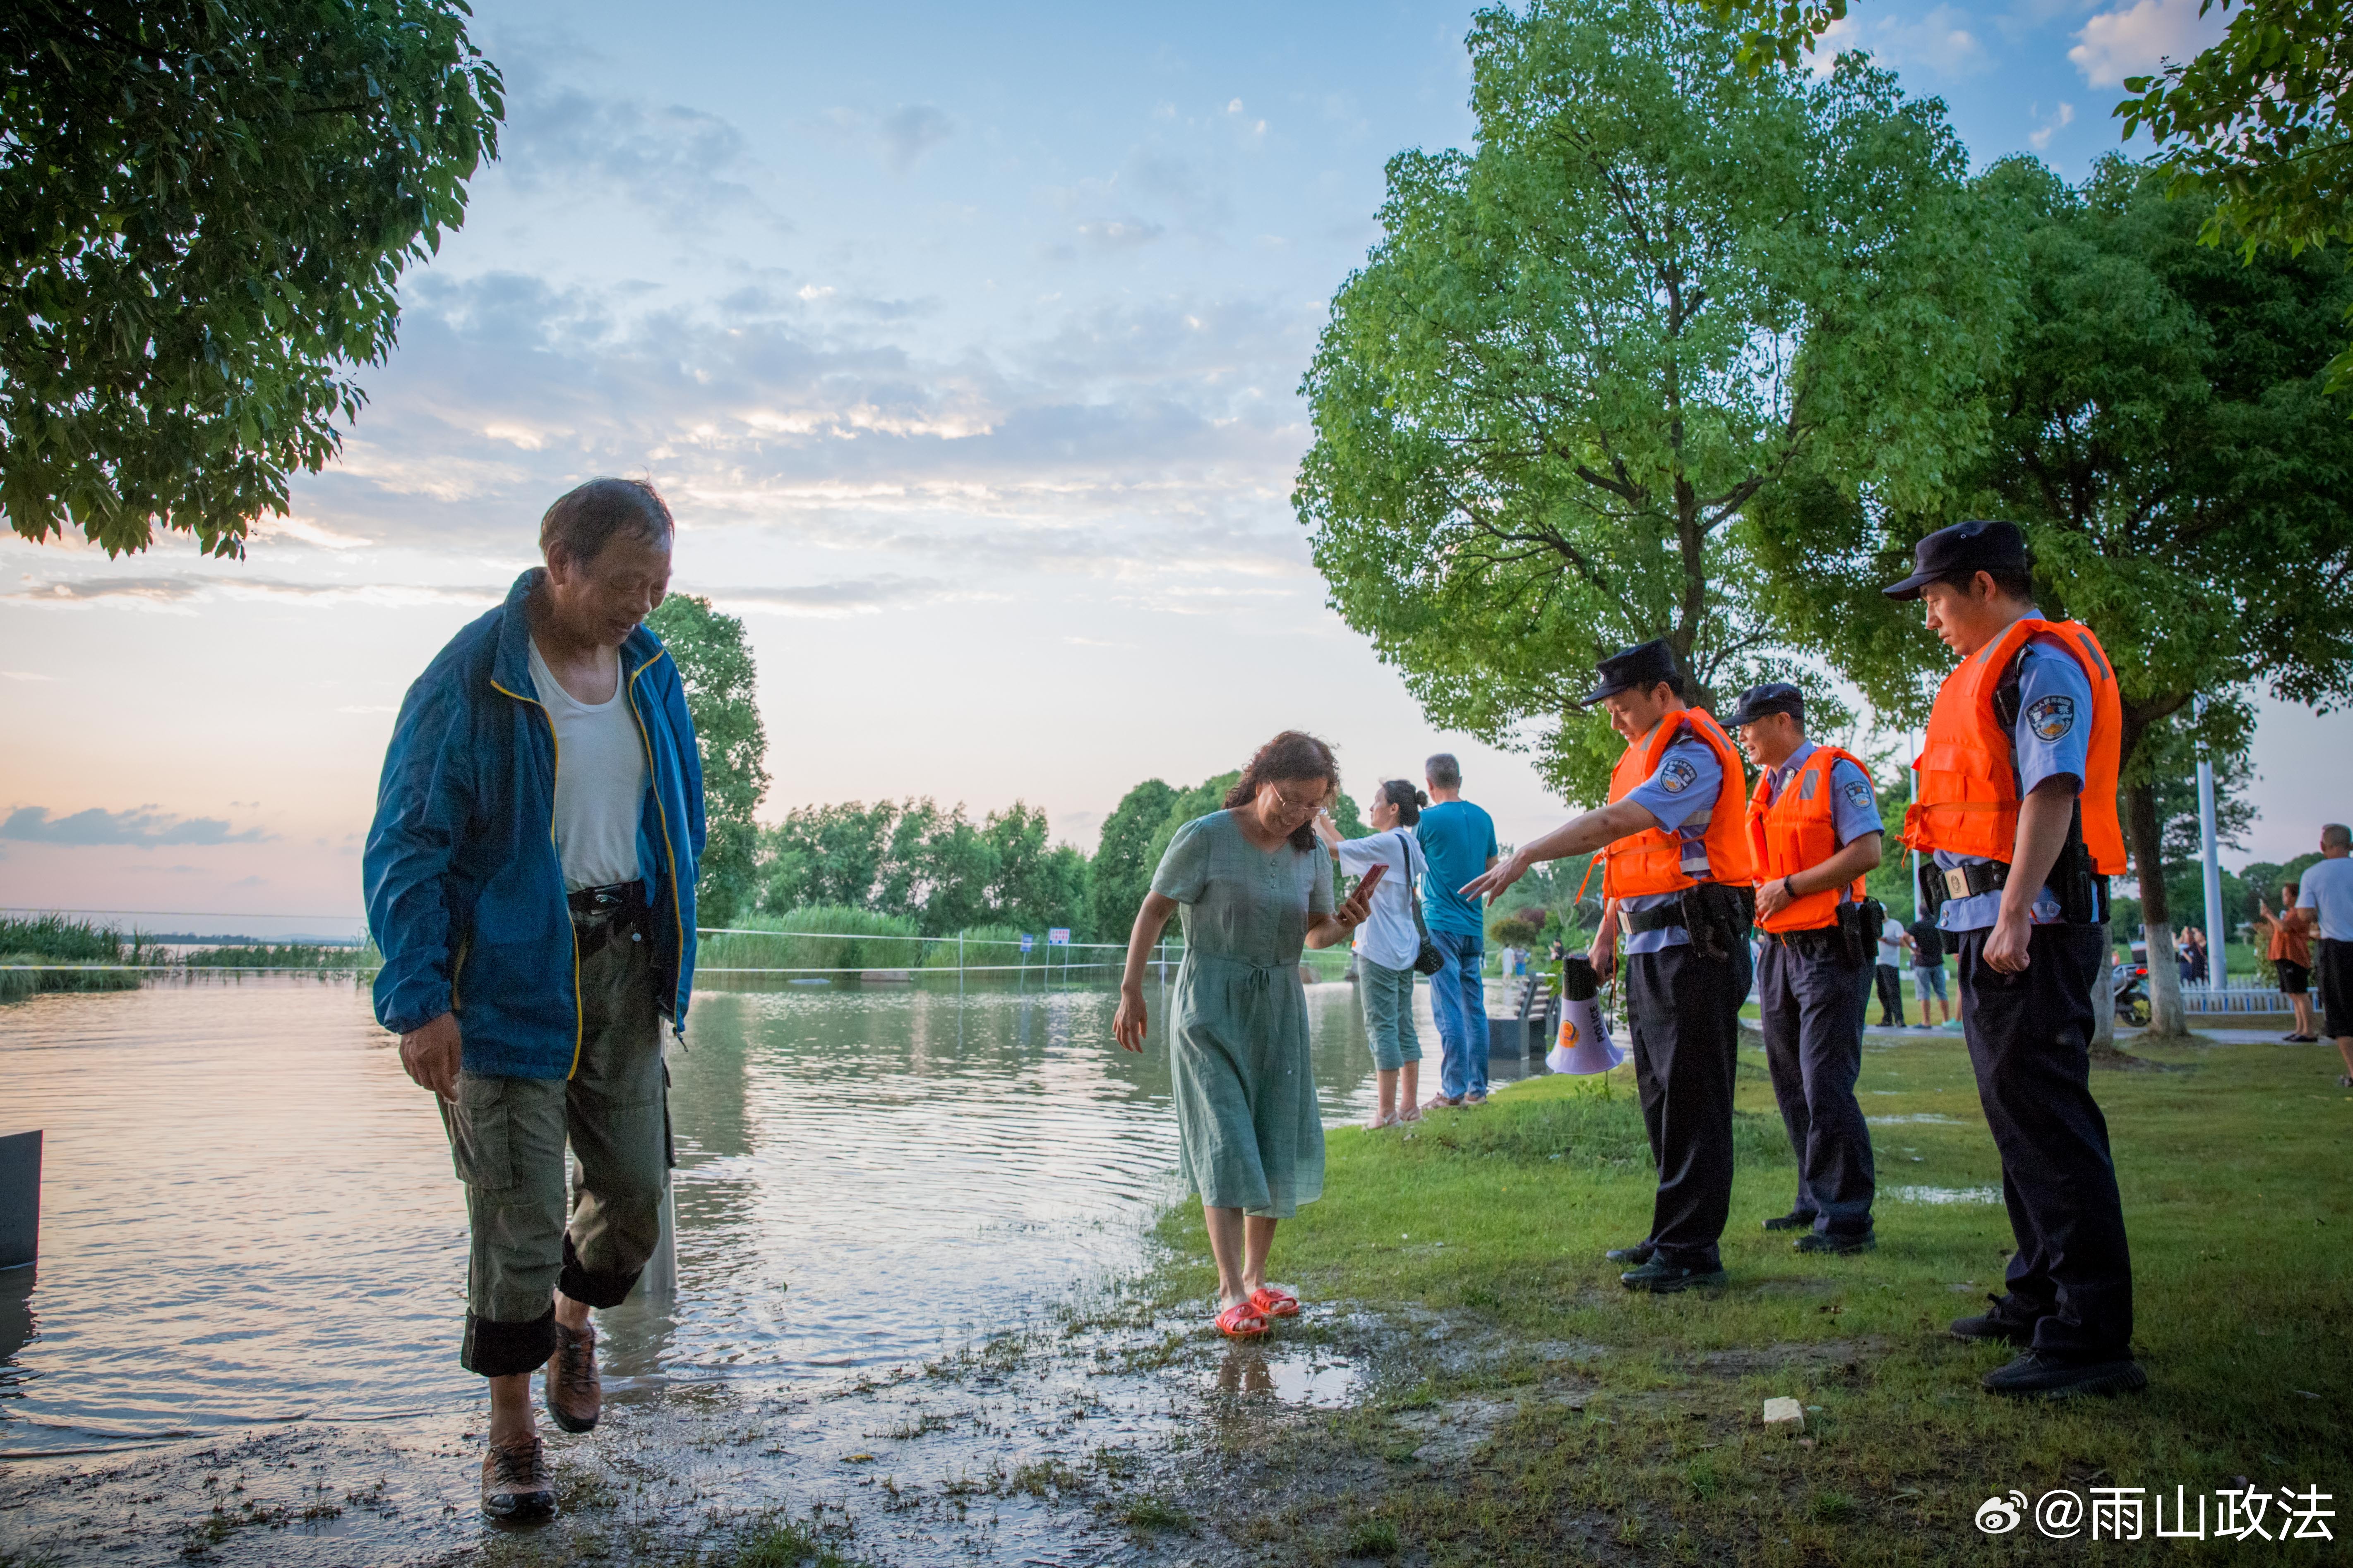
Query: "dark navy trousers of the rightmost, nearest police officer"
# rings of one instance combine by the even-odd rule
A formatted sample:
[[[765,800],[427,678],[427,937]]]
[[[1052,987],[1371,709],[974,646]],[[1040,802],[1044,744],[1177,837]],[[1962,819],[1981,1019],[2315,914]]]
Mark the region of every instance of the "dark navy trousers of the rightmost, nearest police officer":
[[[1960,1018],[2019,1241],[1995,1312],[2033,1324],[2038,1352],[2125,1356],[2132,1253],[2108,1121],[2092,1100],[2092,980],[2108,959],[2106,926],[2035,926],[2014,976],[1986,966],[1988,936],[1960,933]]]

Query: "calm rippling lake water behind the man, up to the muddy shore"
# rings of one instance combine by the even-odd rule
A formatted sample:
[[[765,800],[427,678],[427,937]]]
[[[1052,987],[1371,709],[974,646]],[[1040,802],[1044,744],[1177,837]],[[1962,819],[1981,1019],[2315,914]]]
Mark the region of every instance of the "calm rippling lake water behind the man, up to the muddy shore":
[[[1308,1004],[1327,1119],[1360,1119],[1355,992]],[[925,1359],[1134,1267],[1172,1194],[1158,1011],[1132,1058],[1104,990],[699,994],[678,1293],[605,1314],[616,1392]],[[1424,1041],[1435,1074],[1426,1013]],[[447,1145],[348,983],[0,1009],[0,1131],[31,1126],[42,1262],[0,1274],[0,1450],[480,1396]]]

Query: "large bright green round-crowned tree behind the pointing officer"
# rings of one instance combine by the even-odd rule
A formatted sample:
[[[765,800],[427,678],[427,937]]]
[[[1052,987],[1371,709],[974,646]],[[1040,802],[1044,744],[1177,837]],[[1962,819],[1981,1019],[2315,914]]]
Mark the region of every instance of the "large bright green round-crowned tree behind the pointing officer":
[[[1468,45],[1478,148],[1388,162],[1294,505],[1433,722],[1539,729],[1591,799],[1619,750],[1574,708],[1595,658],[1666,637],[1704,701],[1760,675],[1765,487],[1918,503],[1979,447],[2014,249],[1941,103],[1859,59],[1727,71],[1720,26],[1654,0],[1487,9]]]

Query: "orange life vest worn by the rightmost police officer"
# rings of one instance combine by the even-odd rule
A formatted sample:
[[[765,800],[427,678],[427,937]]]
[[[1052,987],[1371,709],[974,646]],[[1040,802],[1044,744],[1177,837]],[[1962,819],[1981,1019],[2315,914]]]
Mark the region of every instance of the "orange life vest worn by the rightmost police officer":
[[[2125,703],[2115,689],[2108,651],[2078,621],[2026,616],[2000,637],[1969,654],[1944,677],[1927,717],[1927,743],[1913,764],[1920,795],[1904,811],[1904,842],[1922,853],[1951,851],[2009,860],[2019,842],[2017,748],[1993,710],[1993,693],[2028,637],[2064,649],[2092,682],[2092,743],[2082,764],[2082,844],[2092,870],[2115,877],[2125,870],[2125,830],[2115,820],[2115,771],[2125,741]]]

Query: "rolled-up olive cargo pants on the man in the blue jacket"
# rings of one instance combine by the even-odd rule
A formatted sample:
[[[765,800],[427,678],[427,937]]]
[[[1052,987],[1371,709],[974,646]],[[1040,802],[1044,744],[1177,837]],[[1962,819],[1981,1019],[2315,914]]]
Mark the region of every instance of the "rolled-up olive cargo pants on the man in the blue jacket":
[[[569,1079],[466,1072],[456,1105],[440,1103],[473,1225],[459,1363],[482,1378],[539,1368],[555,1349],[551,1293],[619,1307],[661,1241],[668,1072],[647,943],[635,929],[581,931],[579,997],[581,1051]],[[579,1161],[569,1222],[567,1138]]]

